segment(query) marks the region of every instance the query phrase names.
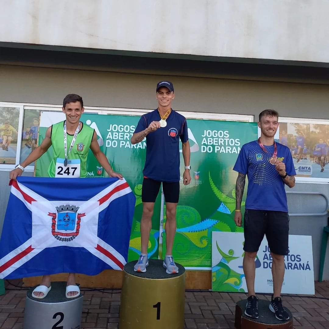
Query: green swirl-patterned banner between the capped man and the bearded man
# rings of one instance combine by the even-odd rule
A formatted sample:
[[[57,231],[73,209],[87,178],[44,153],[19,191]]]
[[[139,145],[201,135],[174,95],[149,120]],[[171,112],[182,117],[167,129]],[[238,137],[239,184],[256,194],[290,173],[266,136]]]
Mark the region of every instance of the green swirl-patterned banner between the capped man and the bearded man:
[[[188,127],[192,181],[185,186],[181,177],[173,256],[186,267],[210,268],[212,232],[243,232],[233,219],[233,166],[242,145],[257,139],[257,123],[189,119]],[[165,232],[163,250],[165,255]]]

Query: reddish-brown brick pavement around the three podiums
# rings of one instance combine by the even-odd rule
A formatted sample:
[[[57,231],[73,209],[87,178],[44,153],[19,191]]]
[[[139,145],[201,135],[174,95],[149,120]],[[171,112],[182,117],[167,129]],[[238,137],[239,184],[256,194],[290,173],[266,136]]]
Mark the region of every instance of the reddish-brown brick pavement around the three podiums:
[[[14,287],[6,284],[6,288]],[[26,290],[9,289],[6,290],[5,295],[0,296],[0,328],[22,328]],[[99,291],[83,291],[83,293],[84,313],[81,327],[117,329],[120,293]],[[258,297],[270,300],[270,296],[258,295]],[[316,282],[316,297],[329,298],[329,281]],[[235,303],[245,298],[244,294],[237,293],[186,291],[185,328],[234,328]],[[300,295],[290,295],[282,299],[294,316],[294,328],[329,329],[328,299],[309,298],[309,296],[304,298]]]

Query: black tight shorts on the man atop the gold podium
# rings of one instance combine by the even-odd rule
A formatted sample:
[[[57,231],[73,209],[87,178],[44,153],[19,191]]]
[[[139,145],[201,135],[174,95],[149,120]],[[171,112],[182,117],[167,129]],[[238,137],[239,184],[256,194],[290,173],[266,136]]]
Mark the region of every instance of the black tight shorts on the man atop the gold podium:
[[[142,185],[142,201],[155,202],[160,190],[161,182],[154,179],[144,178]],[[162,182],[165,202],[178,203],[179,182]]]

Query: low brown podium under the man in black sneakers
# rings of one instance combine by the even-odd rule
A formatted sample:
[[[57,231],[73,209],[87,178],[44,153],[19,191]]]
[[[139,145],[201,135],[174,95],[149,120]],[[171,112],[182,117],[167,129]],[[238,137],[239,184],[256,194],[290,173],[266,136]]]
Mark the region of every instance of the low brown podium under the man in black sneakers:
[[[292,314],[288,311],[289,320],[278,320],[268,308],[269,300],[258,299],[258,319],[244,314],[247,300],[240,300],[235,306],[235,327],[237,329],[292,329]]]

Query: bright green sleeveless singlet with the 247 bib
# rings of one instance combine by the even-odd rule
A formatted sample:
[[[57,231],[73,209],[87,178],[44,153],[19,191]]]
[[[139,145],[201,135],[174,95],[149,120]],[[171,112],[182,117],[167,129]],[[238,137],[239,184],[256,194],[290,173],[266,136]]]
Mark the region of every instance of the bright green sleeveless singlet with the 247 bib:
[[[67,156],[68,163],[79,163],[80,175],[78,172],[74,173],[72,176],[72,168],[70,165],[65,167],[64,165],[59,165],[59,163],[65,159],[64,152],[64,122],[61,121],[52,125],[51,129],[51,142],[53,146],[53,159],[48,168],[49,177],[86,177],[87,176],[87,157],[89,153],[90,143],[94,135],[94,129],[80,122],[80,129],[77,139],[73,145],[71,152]],[[67,152],[70,148],[73,135],[66,134],[67,136]],[[71,160],[71,161],[70,161]],[[62,161],[63,162],[63,161]],[[61,168],[62,166],[62,168]]]

